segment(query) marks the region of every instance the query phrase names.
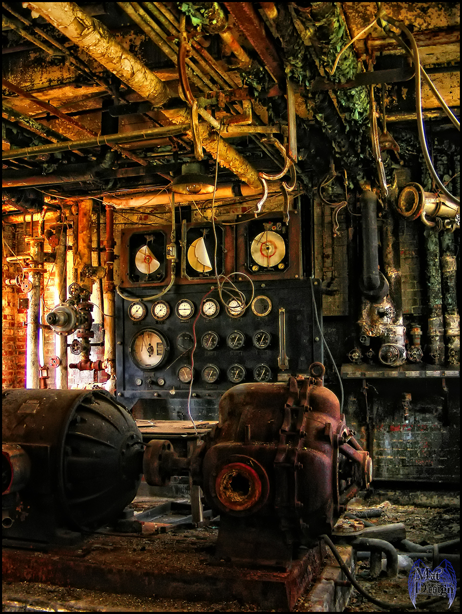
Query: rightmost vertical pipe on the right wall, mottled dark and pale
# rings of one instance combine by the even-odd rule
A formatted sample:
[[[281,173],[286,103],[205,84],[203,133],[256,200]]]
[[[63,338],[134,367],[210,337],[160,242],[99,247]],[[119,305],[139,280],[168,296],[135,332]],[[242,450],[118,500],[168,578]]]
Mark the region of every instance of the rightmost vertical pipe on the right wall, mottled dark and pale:
[[[453,233],[444,232],[439,234],[446,360],[450,365],[458,365],[460,362],[460,322],[457,309],[456,290],[456,244]]]

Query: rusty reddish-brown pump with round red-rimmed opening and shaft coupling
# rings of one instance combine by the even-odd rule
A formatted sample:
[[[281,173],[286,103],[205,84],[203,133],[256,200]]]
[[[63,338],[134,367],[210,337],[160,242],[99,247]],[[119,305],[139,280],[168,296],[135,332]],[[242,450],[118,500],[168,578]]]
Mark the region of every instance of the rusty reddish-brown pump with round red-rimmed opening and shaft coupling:
[[[372,461],[323,386],[310,378],[240,384],[221,398],[219,422],[190,459],[152,440],[143,459],[148,484],[189,468],[220,515],[216,556],[290,567],[294,548],[331,534],[350,500],[372,479]]]

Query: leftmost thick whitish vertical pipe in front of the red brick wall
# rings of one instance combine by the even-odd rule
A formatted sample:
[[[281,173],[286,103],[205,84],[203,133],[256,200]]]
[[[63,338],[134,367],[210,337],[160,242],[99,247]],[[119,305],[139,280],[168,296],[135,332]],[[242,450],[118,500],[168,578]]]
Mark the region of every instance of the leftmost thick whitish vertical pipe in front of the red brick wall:
[[[31,216],[32,217],[32,216]],[[44,239],[26,237],[30,244],[30,255],[33,268],[42,268],[44,263]],[[32,290],[29,293],[26,331],[26,388],[39,387],[39,310],[41,295],[40,271],[31,271]]]

